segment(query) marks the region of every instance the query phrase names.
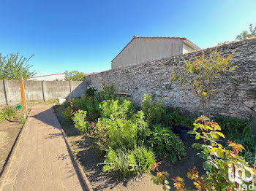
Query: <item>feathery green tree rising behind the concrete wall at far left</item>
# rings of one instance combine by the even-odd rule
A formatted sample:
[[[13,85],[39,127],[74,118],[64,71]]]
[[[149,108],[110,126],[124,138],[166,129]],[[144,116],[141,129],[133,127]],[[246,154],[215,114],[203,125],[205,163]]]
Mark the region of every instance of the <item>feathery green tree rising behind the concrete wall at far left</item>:
[[[0,79],[29,79],[34,76],[35,71],[30,71],[31,65],[28,64],[31,57],[24,58],[17,54],[2,56],[0,53]]]

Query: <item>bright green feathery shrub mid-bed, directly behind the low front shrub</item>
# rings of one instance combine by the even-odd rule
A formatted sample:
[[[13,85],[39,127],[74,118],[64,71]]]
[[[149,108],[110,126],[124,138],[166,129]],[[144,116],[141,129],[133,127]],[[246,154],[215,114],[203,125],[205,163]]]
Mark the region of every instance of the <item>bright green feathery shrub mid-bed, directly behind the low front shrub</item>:
[[[139,111],[129,120],[118,117],[99,119],[96,137],[100,148],[127,150],[140,146],[149,132],[148,124],[143,118],[143,112]]]

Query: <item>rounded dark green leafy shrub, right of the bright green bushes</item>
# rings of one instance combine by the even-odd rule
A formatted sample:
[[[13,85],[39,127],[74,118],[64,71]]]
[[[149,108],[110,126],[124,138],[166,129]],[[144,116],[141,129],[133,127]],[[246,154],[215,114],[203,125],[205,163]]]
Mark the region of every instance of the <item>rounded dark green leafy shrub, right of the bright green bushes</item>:
[[[157,157],[165,158],[171,163],[176,163],[186,155],[183,142],[173,132],[161,125],[154,126],[147,144],[148,147],[153,148]]]

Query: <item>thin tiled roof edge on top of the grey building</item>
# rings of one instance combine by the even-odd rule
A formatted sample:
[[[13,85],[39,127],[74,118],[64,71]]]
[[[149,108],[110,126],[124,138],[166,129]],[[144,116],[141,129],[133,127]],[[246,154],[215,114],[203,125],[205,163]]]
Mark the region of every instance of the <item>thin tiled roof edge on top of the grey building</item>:
[[[184,41],[185,44],[188,44],[190,47],[195,48],[196,50],[200,50],[200,47],[198,47],[196,44],[194,44],[193,42],[191,42],[189,39],[185,38],[185,37],[177,37],[177,36],[133,36],[132,40],[121,50],[121,52],[124,51],[124,49],[134,40],[134,39],[181,39]],[[118,53],[118,55],[121,54],[121,52]],[[116,55],[116,57],[118,57],[118,55]],[[116,59],[113,58],[113,60]],[[113,61],[112,60],[112,61]],[[111,61],[111,62],[112,62]]]

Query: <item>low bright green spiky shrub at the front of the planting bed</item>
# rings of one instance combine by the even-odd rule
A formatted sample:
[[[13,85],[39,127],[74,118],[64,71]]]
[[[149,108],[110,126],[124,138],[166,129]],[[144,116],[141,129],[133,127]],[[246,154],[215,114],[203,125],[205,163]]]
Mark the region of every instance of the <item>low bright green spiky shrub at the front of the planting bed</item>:
[[[154,161],[154,153],[145,147],[127,152],[110,149],[104,161],[103,171],[117,172],[124,177],[136,176],[151,171],[151,164]]]

